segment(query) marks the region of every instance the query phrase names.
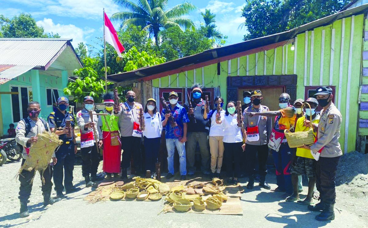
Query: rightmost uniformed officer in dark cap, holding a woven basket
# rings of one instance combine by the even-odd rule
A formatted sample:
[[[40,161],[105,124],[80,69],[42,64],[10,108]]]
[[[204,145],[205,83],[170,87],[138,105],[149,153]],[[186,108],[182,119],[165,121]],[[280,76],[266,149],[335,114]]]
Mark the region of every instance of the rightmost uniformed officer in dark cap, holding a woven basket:
[[[315,206],[309,205],[312,211],[322,211],[316,216],[318,221],[328,221],[335,219],[333,207],[336,201],[335,179],[337,164],[340,161],[342,151],[339,144],[340,126],[342,116],[340,111],[332,103],[332,89],[330,87],[319,87],[314,95],[318,104],[323,107],[319,124],[313,124],[317,133],[317,141],[311,146],[304,145],[303,148],[309,149],[316,163],[316,186],[320,193],[319,200]],[[306,120],[305,125],[309,125]]]

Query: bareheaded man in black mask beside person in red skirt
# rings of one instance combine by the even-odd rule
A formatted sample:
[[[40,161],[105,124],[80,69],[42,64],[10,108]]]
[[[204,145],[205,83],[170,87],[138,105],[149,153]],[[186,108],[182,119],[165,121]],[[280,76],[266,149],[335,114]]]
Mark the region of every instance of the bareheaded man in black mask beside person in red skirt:
[[[135,92],[128,91],[125,98],[126,102],[119,106],[114,105],[114,115],[119,116],[120,136],[121,136],[121,149],[124,150],[121,155],[121,179],[127,179],[127,168],[130,166],[130,159],[133,155],[134,166],[136,171],[142,170],[141,159],[141,140],[142,136],[133,134],[137,132],[139,127],[139,109],[143,108],[141,104],[135,102]]]

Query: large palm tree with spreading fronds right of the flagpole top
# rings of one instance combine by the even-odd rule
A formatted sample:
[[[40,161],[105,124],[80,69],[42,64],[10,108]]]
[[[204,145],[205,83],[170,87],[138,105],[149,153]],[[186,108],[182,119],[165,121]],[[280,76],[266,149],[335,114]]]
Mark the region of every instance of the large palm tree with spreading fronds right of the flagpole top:
[[[183,15],[187,15],[197,9],[191,3],[183,2],[166,10],[168,0],[136,0],[137,3],[128,0],[113,0],[128,11],[115,13],[111,19],[121,21],[121,27],[131,24],[141,26],[149,31],[149,36],[155,38],[159,45],[159,32],[161,28],[182,27],[184,29],[195,29],[193,22]]]

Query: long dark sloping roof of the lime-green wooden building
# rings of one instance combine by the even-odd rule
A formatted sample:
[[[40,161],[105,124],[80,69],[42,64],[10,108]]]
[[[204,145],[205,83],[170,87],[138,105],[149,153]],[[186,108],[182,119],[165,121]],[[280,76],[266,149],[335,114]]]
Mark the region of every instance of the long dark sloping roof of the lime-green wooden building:
[[[132,70],[124,73],[112,74],[107,76],[110,81],[122,82],[143,80],[146,77],[151,77],[155,74],[164,73],[166,71],[180,70],[180,67],[190,66],[198,63],[207,62],[221,57],[230,56],[236,53],[244,52],[247,50],[260,48],[272,43],[286,41],[293,39],[297,34],[302,32],[328,25],[341,18],[350,17],[351,15],[358,15],[365,13],[368,10],[368,4],[364,4],[355,8],[351,8],[336,14],[329,15],[316,21],[312,21],[308,24],[301,25],[300,27],[290,29],[286,32],[280,32],[269,36],[263,36],[256,39],[251,39],[241,43],[235,43],[233,45],[223,46],[220,48],[213,48],[205,50],[204,52],[197,53],[195,55],[183,57],[180,59],[172,60],[170,62],[161,63],[151,67],[143,67],[137,70]],[[194,68],[193,68],[194,69]],[[113,86],[113,85],[111,85]]]

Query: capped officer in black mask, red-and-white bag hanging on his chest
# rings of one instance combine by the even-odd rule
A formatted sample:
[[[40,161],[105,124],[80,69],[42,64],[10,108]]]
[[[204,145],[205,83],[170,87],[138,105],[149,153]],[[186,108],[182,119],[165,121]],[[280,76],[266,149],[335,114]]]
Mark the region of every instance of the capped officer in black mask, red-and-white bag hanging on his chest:
[[[249,182],[247,189],[252,189],[254,185],[256,155],[258,155],[259,165],[259,186],[270,189],[271,187],[266,182],[267,174],[267,158],[268,158],[268,140],[272,131],[271,117],[267,116],[251,116],[250,112],[267,112],[269,108],[261,105],[262,102],[261,90],[255,90],[251,93],[252,105],[245,109],[243,113],[244,127],[247,129],[247,140],[245,153],[247,154],[247,166]]]

